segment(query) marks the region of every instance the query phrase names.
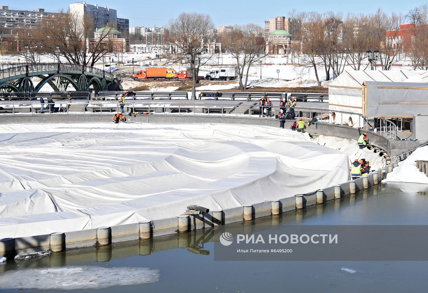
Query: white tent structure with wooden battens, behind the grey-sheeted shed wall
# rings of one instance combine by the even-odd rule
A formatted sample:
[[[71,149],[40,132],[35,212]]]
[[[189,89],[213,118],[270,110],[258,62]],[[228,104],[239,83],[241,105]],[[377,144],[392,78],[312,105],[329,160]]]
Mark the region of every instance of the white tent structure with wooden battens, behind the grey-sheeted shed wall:
[[[366,99],[364,96],[365,82],[428,82],[428,72],[423,70],[346,70],[328,86],[330,122],[345,124],[352,127],[363,127],[366,117]],[[408,86],[408,84],[406,85]],[[392,95],[400,99],[400,94]],[[339,113],[342,111],[347,113]],[[397,116],[397,115],[391,115]],[[373,118],[373,117],[370,117]]]

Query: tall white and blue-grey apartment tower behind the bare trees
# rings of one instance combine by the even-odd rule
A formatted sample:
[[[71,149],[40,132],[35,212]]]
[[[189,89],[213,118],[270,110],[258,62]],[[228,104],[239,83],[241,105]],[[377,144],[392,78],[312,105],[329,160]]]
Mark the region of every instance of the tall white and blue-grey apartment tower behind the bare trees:
[[[95,30],[107,26],[113,22],[118,30],[129,30],[129,19],[117,18],[117,10],[107,6],[91,5],[86,2],[70,3],[70,12],[83,19],[84,15],[90,15],[95,24]]]

